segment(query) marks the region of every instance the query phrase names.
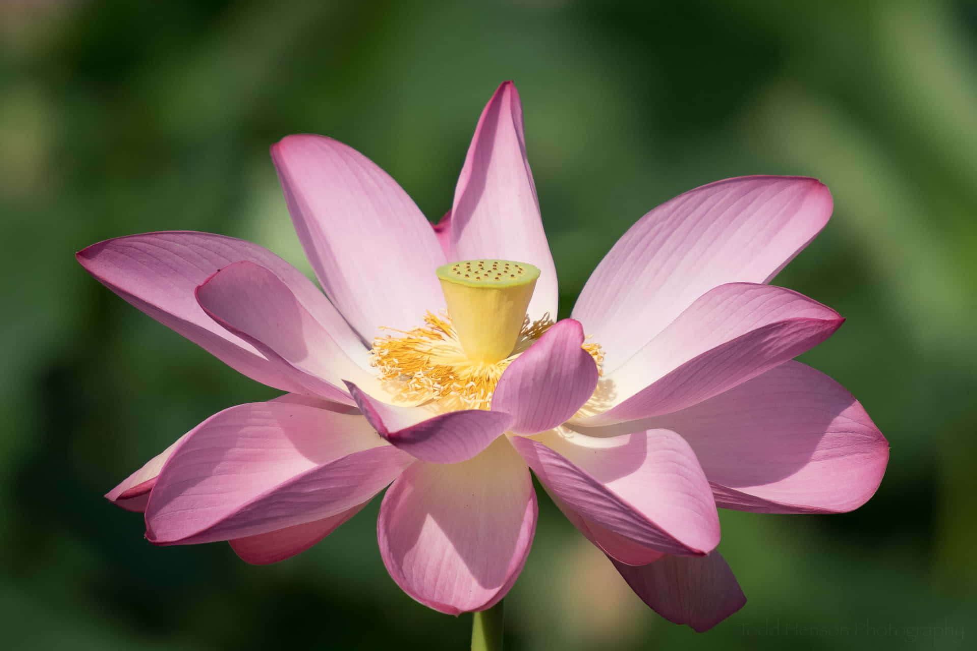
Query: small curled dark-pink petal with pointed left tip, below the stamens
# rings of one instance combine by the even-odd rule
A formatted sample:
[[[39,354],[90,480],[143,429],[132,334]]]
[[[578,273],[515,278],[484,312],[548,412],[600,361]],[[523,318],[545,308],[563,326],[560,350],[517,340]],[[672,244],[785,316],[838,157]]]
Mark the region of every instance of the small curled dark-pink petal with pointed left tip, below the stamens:
[[[434,464],[457,464],[485,450],[512,424],[504,412],[464,409],[433,415],[423,407],[390,405],[347,383],[366,421],[391,444]]]

